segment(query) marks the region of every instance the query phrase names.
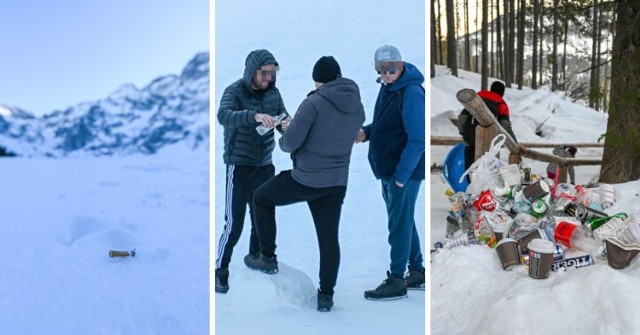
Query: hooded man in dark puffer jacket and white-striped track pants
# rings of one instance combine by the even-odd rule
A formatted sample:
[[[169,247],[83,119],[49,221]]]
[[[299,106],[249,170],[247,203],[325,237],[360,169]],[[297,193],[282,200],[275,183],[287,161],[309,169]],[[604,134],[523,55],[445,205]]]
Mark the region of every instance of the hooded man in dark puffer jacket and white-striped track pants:
[[[216,255],[216,292],[229,290],[229,263],[233,248],[242,233],[247,204],[251,216],[249,254],[260,253],[251,197],[255,189],[273,177],[271,154],[275,148],[274,132],[260,135],[263,125],[282,132],[291,119],[276,88],[278,62],[267,50],[249,53],[242,79],[227,87],[220,100],[218,122],[224,127],[224,163],[226,164],[225,226]],[[276,125],[275,117],[285,115]]]

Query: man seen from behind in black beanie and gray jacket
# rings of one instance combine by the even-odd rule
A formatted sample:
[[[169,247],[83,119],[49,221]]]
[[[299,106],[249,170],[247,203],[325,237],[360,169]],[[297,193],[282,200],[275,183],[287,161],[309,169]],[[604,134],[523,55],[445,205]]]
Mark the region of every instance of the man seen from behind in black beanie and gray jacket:
[[[291,153],[293,170],[280,172],[253,194],[261,255],[247,266],[278,272],[275,207],[306,201],[320,248],[318,310],[327,312],[340,266],[338,225],[351,150],[365,115],[358,85],[341,76],[333,57],[320,58],[312,77],[317,89],[300,104],[279,141]]]

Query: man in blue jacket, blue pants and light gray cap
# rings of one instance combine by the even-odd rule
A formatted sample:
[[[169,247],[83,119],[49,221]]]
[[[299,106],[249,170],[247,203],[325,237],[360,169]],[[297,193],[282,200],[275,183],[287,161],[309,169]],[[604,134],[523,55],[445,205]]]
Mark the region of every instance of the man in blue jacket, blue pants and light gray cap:
[[[407,288],[424,290],[424,266],[414,212],[420,185],[425,178],[424,76],[400,51],[384,45],[374,55],[381,84],[373,121],[363,127],[357,143],[369,141],[369,163],[382,184],[387,205],[391,265],[387,279],[375,290],[365,291],[370,300],[407,297]],[[405,271],[408,273],[405,275]]]

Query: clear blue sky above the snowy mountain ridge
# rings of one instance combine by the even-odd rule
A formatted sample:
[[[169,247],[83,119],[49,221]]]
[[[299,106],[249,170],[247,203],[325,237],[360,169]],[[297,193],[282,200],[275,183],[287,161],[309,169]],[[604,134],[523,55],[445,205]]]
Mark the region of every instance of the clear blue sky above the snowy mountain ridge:
[[[208,50],[208,0],[0,0],[0,104],[49,114]]]

